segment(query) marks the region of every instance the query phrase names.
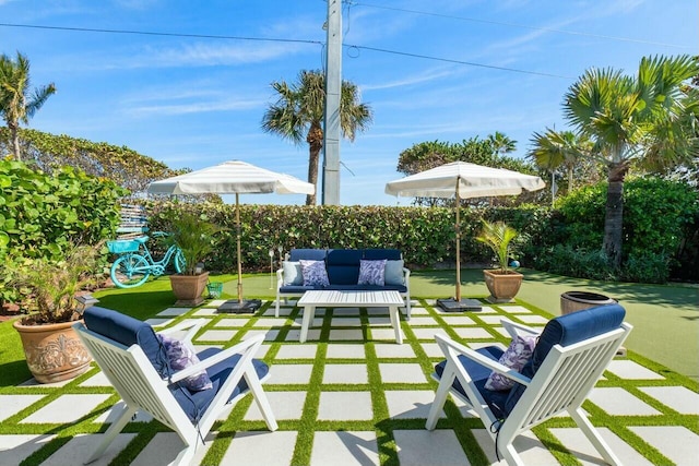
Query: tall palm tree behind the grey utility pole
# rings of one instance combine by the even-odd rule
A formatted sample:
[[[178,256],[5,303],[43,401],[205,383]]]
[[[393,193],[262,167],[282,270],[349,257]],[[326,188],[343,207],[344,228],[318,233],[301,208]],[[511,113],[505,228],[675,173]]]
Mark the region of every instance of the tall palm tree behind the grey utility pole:
[[[304,135],[306,136],[309,152],[308,182],[318,187],[318,162],[323,146],[325,76],[321,71],[303,70],[295,84],[275,81],[272,88],[279,98],[266,109],[262,129],[295,144],[301,144]],[[340,129],[343,136],[354,141],[357,131],[364,131],[370,122],[371,108],[359,103],[358,87],[343,81],[340,96]],[[316,205],[316,193],[308,194],[306,205]]]

